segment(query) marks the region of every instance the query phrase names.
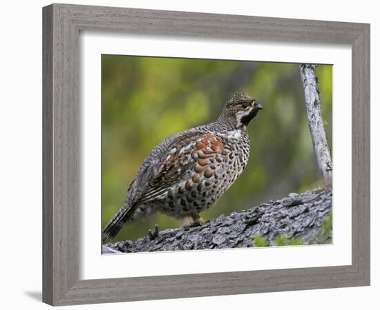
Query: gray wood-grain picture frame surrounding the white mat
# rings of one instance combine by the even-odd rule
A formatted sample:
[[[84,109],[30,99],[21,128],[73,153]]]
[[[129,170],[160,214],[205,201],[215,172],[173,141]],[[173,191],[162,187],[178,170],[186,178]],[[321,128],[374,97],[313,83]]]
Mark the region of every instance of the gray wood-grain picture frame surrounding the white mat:
[[[67,4],[46,6],[43,23],[44,302],[88,304],[370,285],[370,25]],[[352,265],[79,280],[81,30],[351,45]]]

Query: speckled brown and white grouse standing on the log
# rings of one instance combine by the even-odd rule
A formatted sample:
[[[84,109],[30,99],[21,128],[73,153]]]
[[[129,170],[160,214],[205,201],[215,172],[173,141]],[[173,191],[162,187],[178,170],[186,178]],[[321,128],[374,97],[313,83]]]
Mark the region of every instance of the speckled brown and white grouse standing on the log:
[[[124,204],[104,227],[103,242],[112,240],[124,225],[157,211],[184,227],[202,224],[199,213],[216,203],[245,169],[247,125],[260,110],[263,106],[252,96],[234,92],[216,121],[158,144],[129,185]]]

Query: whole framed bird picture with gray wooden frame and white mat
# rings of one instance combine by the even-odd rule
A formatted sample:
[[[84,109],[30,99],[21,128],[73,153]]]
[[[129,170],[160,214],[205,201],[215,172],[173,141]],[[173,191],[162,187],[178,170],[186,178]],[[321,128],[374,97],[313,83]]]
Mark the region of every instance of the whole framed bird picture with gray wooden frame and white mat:
[[[44,302],[369,285],[368,24],[43,17]]]

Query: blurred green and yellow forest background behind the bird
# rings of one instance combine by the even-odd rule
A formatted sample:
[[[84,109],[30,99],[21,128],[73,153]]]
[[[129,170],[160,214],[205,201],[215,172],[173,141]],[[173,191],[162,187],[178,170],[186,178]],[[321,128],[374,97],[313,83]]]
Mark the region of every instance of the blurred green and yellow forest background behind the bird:
[[[316,68],[325,131],[332,150],[332,65]],[[248,126],[249,163],[201,216],[248,209],[323,185],[314,157],[298,65],[254,61],[102,55],[102,228],[120,209],[140,164],[164,138],[218,118],[231,92],[265,110]],[[179,227],[163,214],[128,225],[113,241]]]

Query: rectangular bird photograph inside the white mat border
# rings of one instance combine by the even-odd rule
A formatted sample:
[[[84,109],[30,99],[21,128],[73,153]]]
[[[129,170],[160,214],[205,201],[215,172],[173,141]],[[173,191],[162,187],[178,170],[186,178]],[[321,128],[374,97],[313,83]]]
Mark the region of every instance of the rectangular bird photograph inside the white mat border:
[[[314,68],[305,70],[315,73]],[[323,119],[328,120],[321,131],[331,141],[332,65],[319,65],[316,74]],[[246,92],[236,92],[237,85]],[[277,193],[287,196],[323,185],[303,93],[294,63],[102,54],[102,227],[104,239],[128,240],[108,243],[104,250],[226,249],[251,247],[255,242],[257,246],[260,241],[263,245],[331,243],[330,232],[325,231],[324,238],[316,235],[322,234],[323,220],[331,226],[327,222],[329,216],[332,219],[332,196],[322,203],[315,200],[315,192],[310,198],[293,193],[282,203],[276,199],[248,214],[238,212]],[[249,94],[280,112],[258,116],[265,104]],[[176,132],[180,133],[170,137]],[[240,139],[240,134],[247,136]],[[268,149],[273,156],[268,156]],[[152,169],[142,164],[155,161]],[[142,181],[146,175],[155,180]],[[133,180],[125,203],[122,179]],[[144,190],[142,183],[148,186]],[[332,194],[330,187],[328,191]],[[237,213],[229,216],[233,211]],[[174,229],[181,221],[184,228]],[[202,221],[207,224],[200,225]],[[153,227],[155,234],[160,230],[160,238],[147,234]],[[131,242],[137,238],[137,243]]]

